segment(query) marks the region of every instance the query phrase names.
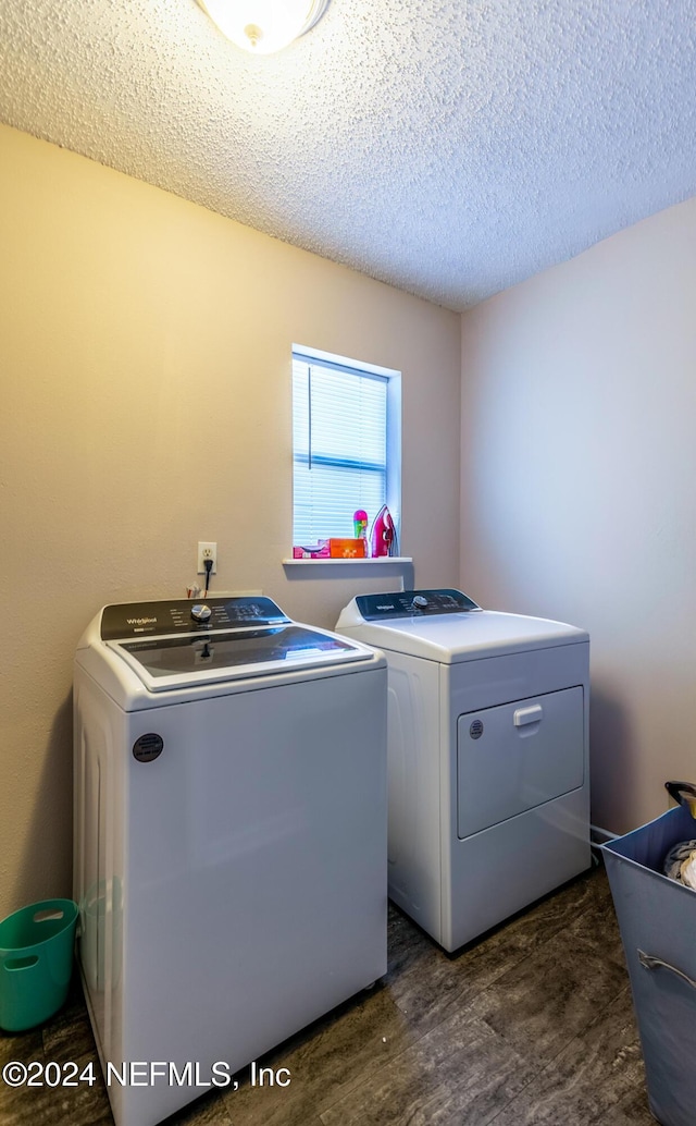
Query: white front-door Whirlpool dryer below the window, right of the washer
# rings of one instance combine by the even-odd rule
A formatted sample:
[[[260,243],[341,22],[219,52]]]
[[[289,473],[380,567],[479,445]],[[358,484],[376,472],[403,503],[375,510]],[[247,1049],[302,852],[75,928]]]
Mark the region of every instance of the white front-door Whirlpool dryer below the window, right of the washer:
[[[454,950],[587,868],[589,638],[459,590],[364,595],[389,665],[389,895]]]

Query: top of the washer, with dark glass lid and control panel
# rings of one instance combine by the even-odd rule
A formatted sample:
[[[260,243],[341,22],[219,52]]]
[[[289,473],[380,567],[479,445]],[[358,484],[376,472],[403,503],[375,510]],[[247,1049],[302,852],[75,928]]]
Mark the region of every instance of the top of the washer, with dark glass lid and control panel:
[[[152,692],[371,656],[345,637],[291,622],[269,598],[107,606],[100,637]]]

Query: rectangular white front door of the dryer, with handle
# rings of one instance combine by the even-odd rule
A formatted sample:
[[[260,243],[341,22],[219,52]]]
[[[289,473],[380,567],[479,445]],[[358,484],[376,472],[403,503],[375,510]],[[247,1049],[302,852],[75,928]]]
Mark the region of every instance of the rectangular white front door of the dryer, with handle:
[[[581,786],[582,725],[579,686],[460,715],[459,838]]]

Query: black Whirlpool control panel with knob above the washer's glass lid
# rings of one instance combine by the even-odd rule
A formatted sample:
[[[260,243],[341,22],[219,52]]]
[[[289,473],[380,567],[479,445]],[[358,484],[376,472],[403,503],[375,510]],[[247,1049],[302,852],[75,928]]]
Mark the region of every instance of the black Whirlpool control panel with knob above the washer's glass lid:
[[[197,602],[190,598],[171,601],[124,602],[105,606],[101,615],[102,641],[126,637],[195,633],[205,628],[231,629],[238,626],[280,625],[289,622],[279,606],[261,596],[207,598]]]

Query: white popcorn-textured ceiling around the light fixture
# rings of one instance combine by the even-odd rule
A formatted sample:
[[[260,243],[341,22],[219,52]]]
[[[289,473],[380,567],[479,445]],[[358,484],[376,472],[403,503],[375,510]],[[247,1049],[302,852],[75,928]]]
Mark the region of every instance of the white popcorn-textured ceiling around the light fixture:
[[[696,0],[0,0],[0,120],[460,310],[696,194]]]

